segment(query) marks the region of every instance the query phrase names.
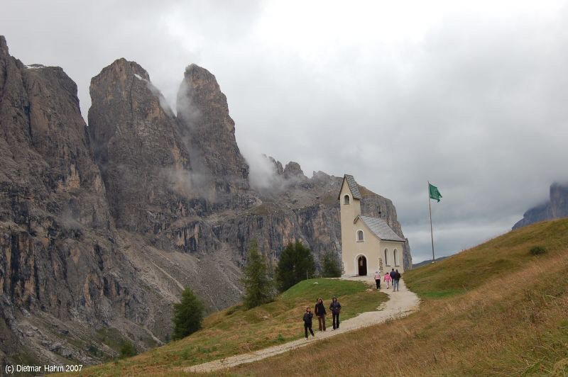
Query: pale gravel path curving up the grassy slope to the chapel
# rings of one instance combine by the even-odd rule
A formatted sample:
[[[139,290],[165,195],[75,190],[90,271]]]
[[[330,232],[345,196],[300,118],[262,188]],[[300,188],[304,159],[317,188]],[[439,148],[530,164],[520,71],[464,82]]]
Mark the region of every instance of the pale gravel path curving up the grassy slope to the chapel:
[[[369,280],[368,278],[348,278],[348,280],[368,281],[368,283],[373,286],[375,285],[375,281]],[[316,332],[315,338],[310,337],[309,340],[302,338],[293,342],[279,344],[278,346],[258,349],[258,351],[252,351],[247,354],[230,356],[226,359],[219,359],[209,361],[204,364],[188,366],[187,368],[184,368],[184,371],[212,372],[218,371],[219,369],[231,368],[240,364],[252,363],[253,361],[266,359],[267,357],[283,354],[284,352],[292,349],[307,346],[308,344],[317,342],[320,339],[327,339],[361,327],[378,325],[379,323],[386,322],[387,320],[405,317],[418,309],[418,305],[420,305],[418,296],[409,291],[403,281],[400,281],[400,291],[398,292],[393,292],[392,289],[384,289],[384,286],[382,286],[382,288],[383,289],[381,289],[381,291],[389,296],[389,300],[386,303],[383,303],[374,312],[361,313],[349,320],[342,321],[341,328],[339,330],[331,331],[328,329],[326,332]],[[317,327],[317,321],[315,322],[315,325]]]

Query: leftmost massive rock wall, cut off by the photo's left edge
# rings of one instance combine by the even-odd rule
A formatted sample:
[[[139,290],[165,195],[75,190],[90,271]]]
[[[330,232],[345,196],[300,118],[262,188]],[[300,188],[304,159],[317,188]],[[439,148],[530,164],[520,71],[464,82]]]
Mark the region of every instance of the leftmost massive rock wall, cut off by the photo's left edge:
[[[0,78],[0,327],[13,339],[0,354],[92,363],[60,337],[87,344],[117,315],[143,322],[152,295],[117,252],[75,83],[59,67],[24,66],[3,37]]]

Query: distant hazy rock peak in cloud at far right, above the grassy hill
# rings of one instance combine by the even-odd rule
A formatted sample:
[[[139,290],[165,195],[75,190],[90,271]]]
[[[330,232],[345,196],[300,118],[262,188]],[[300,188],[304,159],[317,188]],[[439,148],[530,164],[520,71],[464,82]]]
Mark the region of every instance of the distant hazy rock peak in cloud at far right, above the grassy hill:
[[[523,218],[513,225],[513,229],[537,223],[539,221],[565,218],[568,216],[568,184],[552,184],[550,200],[540,206],[530,208]]]

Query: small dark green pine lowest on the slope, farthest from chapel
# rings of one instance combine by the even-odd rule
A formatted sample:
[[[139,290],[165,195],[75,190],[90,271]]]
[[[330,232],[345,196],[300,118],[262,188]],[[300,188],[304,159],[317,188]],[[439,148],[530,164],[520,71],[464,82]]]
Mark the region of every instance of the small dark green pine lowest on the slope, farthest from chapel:
[[[185,288],[180,303],[173,305],[172,339],[182,339],[200,330],[203,322],[203,309],[203,303],[195,296],[191,288]]]

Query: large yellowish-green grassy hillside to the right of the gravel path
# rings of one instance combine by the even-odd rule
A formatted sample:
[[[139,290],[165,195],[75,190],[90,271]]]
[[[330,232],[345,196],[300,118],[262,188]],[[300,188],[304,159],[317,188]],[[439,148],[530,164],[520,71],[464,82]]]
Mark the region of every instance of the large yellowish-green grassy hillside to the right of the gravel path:
[[[547,253],[530,254],[541,245]],[[566,376],[568,219],[538,223],[410,271],[420,310],[231,369],[231,375]]]

